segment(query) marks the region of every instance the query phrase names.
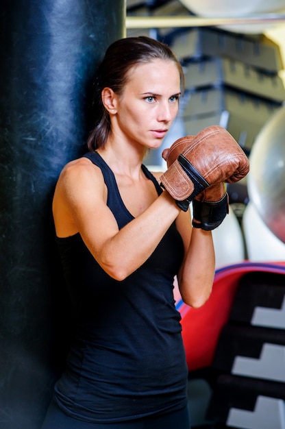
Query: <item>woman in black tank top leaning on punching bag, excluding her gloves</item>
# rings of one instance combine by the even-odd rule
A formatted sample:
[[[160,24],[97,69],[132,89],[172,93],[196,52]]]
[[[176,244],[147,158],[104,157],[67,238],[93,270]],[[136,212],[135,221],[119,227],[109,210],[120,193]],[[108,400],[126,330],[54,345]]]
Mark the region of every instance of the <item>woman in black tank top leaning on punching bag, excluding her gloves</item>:
[[[199,307],[214,277],[210,231],[142,164],[177,115],[183,72],[166,45],[124,38],[97,73],[90,152],[64,167],[53,199],[77,328],[42,429],[189,429],[177,275]]]

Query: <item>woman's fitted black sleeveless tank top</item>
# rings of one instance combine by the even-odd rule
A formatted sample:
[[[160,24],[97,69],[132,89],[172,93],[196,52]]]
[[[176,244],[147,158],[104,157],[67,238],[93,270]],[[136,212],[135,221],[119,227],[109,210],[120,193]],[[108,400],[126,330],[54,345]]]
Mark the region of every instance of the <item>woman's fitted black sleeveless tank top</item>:
[[[101,169],[108,207],[123,228],[134,217],[114,174],[97,152],[85,156]],[[160,194],[155,177],[142,169]],[[55,385],[58,405],[77,419],[106,423],[184,407],[188,370],[173,298],[184,251],[175,224],[121,282],[101,269],[79,234],[57,241],[76,312],[75,339]]]

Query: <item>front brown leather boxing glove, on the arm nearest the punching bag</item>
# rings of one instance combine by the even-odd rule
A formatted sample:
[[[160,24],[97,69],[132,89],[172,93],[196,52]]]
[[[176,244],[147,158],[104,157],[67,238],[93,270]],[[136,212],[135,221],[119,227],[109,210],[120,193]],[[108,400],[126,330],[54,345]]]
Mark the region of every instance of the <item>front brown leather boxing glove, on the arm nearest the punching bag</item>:
[[[171,154],[173,151],[177,154],[177,147],[183,147],[183,150],[170,164]],[[166,161],[168,169],[160,177],[161,185],[184,211],[209,186],[238,182],[249,171],[245,152],[219,125],[207,127],[196,136],[176,140],[169,149]]]

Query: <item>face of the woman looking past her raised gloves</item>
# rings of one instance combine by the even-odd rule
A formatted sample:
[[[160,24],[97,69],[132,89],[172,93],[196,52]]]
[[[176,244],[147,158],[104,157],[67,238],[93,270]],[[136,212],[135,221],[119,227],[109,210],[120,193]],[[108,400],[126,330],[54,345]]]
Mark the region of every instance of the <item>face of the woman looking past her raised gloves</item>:
[[[128,77],[123,94],[116,99],[112,130],[132,144],[160,147],[178,112],[181,93],[177,66],[170,60],[153,60],[138,64]]]

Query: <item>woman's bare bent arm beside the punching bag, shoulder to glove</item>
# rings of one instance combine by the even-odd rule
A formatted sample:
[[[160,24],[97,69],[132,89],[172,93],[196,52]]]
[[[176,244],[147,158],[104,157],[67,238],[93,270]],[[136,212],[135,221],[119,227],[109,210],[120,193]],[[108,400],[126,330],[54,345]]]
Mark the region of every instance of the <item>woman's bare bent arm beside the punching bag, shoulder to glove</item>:
[[[180,210],[164,192],[119,230],[106,198],[101,170],[85,159],[71,162],[55,189],[55,230],[58,236],[79,232],[99,265],[113,278],[123,280],[149,258]]]

